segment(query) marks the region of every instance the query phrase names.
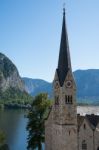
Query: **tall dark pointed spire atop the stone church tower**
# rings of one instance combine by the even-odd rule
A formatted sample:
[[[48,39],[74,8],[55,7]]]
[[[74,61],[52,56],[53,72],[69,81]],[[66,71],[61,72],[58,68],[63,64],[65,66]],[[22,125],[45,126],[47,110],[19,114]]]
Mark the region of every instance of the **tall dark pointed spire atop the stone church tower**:
[[[59,53],[59,61],[58,61],[58,68],[57,68],[59,82],[61,86],[64,83],[64,80],[66,78],[69,69],[71,69],[71,61],[70,61],[70,53],[69,53],[68,35],[67,35],[66,24],[65,24],[65,8],[64,8],[60,53]]]

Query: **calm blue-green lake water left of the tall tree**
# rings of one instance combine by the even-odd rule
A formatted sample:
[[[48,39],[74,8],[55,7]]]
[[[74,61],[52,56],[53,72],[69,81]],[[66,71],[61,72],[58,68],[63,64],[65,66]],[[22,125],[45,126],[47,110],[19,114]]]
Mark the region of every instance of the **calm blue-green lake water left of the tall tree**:
[[[6,133],[10,150],[26,150],[26,110],[0,110],[0,129]]]

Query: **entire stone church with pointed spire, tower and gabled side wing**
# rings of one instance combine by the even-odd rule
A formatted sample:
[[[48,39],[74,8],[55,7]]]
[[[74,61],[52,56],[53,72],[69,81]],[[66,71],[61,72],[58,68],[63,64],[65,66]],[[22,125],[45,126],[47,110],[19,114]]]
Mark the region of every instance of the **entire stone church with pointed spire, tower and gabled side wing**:
[[[99,150],[99,116],[77,115],[65,9],[53,90],[54,104],[45,122],[45,150]]]

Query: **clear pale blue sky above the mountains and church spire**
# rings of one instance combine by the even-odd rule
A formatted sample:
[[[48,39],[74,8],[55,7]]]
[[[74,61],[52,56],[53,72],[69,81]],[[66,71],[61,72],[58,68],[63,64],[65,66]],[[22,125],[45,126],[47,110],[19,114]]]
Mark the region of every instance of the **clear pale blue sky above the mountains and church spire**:
[[[22,77],[53,80],[64,3],[73,71],[99,69],[99,0],[0,0],[0,52]]]

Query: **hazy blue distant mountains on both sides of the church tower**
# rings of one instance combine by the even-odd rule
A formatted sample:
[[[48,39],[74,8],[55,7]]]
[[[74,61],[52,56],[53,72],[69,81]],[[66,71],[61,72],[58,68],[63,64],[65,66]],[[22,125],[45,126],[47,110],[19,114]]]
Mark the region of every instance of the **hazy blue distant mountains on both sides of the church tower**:
[[[77,85],[79,103],[99,104],[99,69],[76,70],[73,72]],[[52,97],[52,83],[40,79],[23,78],[27,91],[35,96],[48,92]]]

